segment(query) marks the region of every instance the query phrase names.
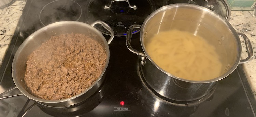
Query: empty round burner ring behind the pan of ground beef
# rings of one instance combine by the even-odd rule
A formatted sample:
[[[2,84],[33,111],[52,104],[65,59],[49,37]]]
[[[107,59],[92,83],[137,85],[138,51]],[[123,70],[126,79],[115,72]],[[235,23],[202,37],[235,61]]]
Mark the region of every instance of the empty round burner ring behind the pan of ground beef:
[[[81,6],[73,0],[55,0],[40,11],[40,22],[46,26],[58,21],[78,21],[82,15]]]

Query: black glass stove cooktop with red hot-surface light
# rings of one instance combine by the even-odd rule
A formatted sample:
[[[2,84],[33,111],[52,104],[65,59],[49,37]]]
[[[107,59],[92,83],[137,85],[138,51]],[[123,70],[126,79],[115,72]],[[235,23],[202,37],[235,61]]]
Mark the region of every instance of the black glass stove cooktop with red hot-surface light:
[[[14,33],[13,39],[0,68],[0,93],[5,92],[15,84],[12,79],[11,66],[16,50],[22,42],[33,32],[57,21],[80,21],[90,23],[94,18],[88,13],[88,5],[94,0],[27,0],[23,14]],[[112,0],[113,1],[113,0]],[[123,0],[126,2],[127,0]],[[136,9],[143,9],[137,0],[129,0],[131,9],[120,10],[119,7],[109,10],[113,16],[124,16],[121,19],[143,20],[155,9],[165,5],[165,0],[150,1],[147,13],[134,12]],[[142,1],[140,1],[142,2]],[[102,3],[110,5],[110,0],[102,0]],[[141,3],[142,4],[142,3]],[[103,4],[104,5],[104,4]],[[112,4],[117,5],[117,4]],[[91,8],[91,7],[90,7]],[[104,9],[99,5],[97,9]],[[146,9],[145,8],[145,9]],[[143,11],[143,10],[141,10]],[[134,12],[127,15],[127,13]],[[149,12],[149,13],[148,13]],[[94,12],[95,14],[95,12]],[[128,18],[132,16],[132,18]],[[117,17],[118,18],[118,17]],[[110,21],[110,20],[108,20]],[[105,22],[108,22],[105,21]],[[125,23],[124,23],[125,22]],[[106,79],[100,88],[85,101],[70,107],[49,107],[35,102],[24,95],[0,100],[0,117],[23,116],[31,117],[52,117],[52,116],[90,116],[90,117],[255,117],[256,101],[250,89],[248,81],[239,65],[228,77],[220,80],[209,94],[203,98],[190,102],[177,102],[165,99],[147,86],[142,76],[139,56],[130,52],[126,47],[125,31],[129,26],[143,21],[118,21],[116,18],[111,23],[118,37],[109,44],[110,61],[106,71]],[[101,27],[97,27],[101,32]],[[104,33],[109,38],[107,33]],[[132,45],[135,49],[141,50],[139,33],[134,31]],[[14,89],[11,94],[19,94]],[[5,96],[3,95],[3,96]]]

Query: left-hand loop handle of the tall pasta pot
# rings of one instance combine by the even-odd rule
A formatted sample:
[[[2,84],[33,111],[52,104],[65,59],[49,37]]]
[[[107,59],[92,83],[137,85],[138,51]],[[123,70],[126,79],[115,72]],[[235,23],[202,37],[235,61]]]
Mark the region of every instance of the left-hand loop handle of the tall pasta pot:
[[[127,35],[126,35],[126,46],[127,46],[127,48],[128,48],[131,52],[133,52],[134,54],[137,54],[137,55],[140,55],[140,56],[145,57],[145,54],[144,54],[144,53],[142,53],[142,52],[140,52],[140,51],[138,51],[138,50],[136,50],[136,49],[134,49],[134,48],[131,47],[132,30],[133,30],[134,28],[139,28],[139,29],[141,29],[141,27],[142,27],[141,25],[132,25],[132,26],[129,27],[129,29],[128,29],[128,31],[127,31]]]

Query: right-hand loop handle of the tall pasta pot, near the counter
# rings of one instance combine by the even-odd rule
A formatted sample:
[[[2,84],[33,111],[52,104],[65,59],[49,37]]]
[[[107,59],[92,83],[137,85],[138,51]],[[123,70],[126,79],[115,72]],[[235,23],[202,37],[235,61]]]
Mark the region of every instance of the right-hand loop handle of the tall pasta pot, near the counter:
[[[246,50],[248,52],[248,57],[246,59],[240,60],[239,64],[247,63],[247,62],[252,61],[252,59],[253,59],[253,47],[252,47],[251,41],[248,39],[248,37],[245,34],[243,34],[243,33],[237,33],[237,34],[238,34],[238,36],[243,37],[244,42],[245,42],[245,46],[246,46]]]

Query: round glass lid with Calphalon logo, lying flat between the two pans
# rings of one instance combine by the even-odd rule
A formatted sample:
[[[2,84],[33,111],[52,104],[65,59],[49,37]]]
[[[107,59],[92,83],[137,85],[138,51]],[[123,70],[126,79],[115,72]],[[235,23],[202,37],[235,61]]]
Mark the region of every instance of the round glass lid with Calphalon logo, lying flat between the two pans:
[[[87,9],[86,19],[89,24],[101,20],[114,30],[115,36],[126,36],[131,25],[142,25],[156,8],[151,0],[91,0]],[[110,35],[102,26],[97,25],[96,28],[101,33]],[[135,30],[133,34],[138,31]]]

